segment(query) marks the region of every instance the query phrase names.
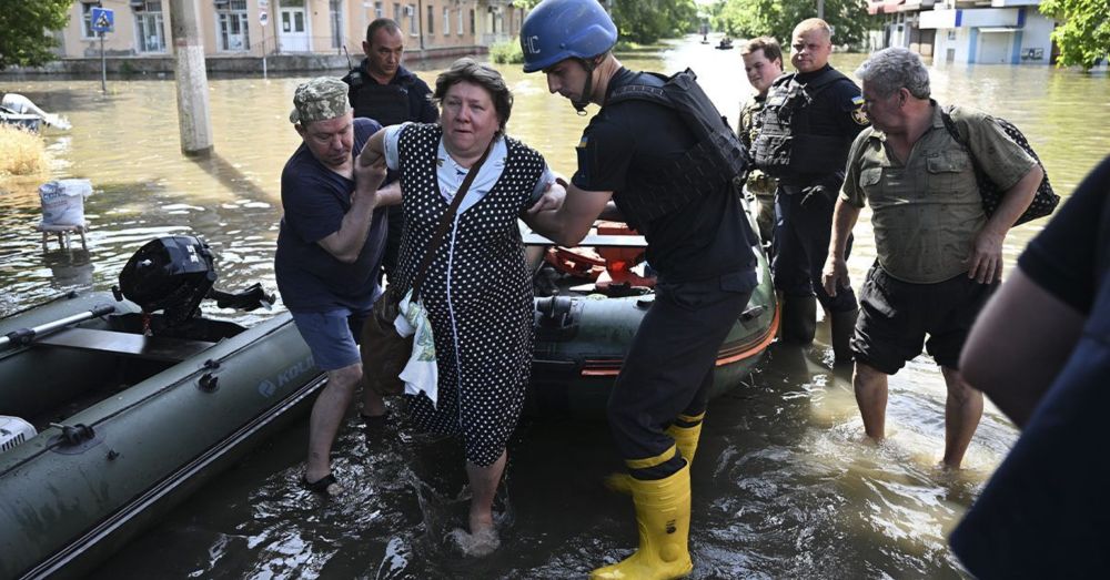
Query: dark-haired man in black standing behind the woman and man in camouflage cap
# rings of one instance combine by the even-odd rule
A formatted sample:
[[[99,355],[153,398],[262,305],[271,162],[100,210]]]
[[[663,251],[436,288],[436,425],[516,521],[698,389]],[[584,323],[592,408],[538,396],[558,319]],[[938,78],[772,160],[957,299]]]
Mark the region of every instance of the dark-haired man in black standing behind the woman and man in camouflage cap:
[[[366,58],[343,78],[343,82],[350,87],[347,96],[355,116],[373,119],[382,126],[405,121],[434,123],[440,120],[440,112],[432,104],[432,90],[427,83],[401,65],[405,43],[396,22],[387,18],[371,22],[366,27],[362,51],[366,53]],[[386,183],[394,179],[396,175],[390,174]],[[391,205],[387,211],[390,231],[382,269],[390,275],[397,264],[404,216],[400,204]]]

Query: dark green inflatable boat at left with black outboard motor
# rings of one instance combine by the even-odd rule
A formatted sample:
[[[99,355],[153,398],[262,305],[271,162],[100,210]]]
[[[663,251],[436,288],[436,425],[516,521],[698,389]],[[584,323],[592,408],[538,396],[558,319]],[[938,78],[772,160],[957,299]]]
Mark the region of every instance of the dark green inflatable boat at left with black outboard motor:
[[[162,238],[120,276],[132,299],[0,320],[0,578],[81,576],[307,409],[324,377],[290,315],[200,316],[214,278],[202,242]]]

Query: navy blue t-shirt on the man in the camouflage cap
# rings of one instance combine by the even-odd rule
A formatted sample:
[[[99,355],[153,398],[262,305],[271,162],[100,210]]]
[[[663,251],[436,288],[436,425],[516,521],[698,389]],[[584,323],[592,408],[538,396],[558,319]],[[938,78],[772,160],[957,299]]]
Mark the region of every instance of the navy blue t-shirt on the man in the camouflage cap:
[[[352,156],[382,125],[354,120]],[[377,274],[385,247],[385,207],[374,210],[359,258],[344,264],[319,242],[337,232],[351,210],[354,181],[325,167],[301,143],[281,173],[284,215],[278,234],[274,272],[282,301],[291,311],[366,311],[377,298]]]

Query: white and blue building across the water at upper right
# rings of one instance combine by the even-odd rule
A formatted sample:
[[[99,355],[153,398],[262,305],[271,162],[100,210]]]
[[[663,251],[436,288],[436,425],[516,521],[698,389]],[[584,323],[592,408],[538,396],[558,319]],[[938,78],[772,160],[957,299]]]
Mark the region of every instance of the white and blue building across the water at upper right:
[[[935,62],[1050,64],[1057,22],[1037,9],[1040,0],[879,0],[882,14],[875,48],[905,47]]]

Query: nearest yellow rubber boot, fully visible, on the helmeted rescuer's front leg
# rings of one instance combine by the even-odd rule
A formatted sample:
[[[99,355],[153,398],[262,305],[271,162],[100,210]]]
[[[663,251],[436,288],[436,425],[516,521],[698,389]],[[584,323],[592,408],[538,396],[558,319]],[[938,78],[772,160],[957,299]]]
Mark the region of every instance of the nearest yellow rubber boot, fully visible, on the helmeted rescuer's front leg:
[[[639,549],[613,566],[589,573],[591,580],[669,580],[694,570],[687,546],[690,532],[690,466],[653,481],[632,479]]]

